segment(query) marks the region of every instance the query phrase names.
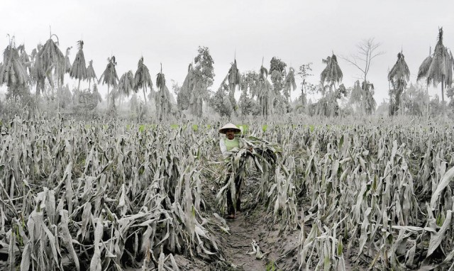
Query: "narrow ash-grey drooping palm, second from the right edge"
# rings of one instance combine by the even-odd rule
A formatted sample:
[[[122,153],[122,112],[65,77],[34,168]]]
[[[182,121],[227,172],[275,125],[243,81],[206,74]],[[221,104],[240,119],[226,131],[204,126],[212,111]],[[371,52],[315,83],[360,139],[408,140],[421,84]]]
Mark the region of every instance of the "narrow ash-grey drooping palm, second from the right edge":
[[[409,66],[406,65],[405,57],[402,52],[397,54],[397,62],[392,66],[391,71],[388,73],[388,81],[391,82],[393,90],[389,95],[391,99],[389,101],[391,116],[399,111],[400,100],[402,92],[406,87],[406,82],[410,79]]]

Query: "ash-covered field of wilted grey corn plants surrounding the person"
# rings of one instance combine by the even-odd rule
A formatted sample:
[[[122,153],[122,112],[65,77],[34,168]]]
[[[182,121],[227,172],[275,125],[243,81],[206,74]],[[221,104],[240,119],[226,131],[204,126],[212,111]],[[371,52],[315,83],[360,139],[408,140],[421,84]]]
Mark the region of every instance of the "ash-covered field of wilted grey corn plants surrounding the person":
[[[241,270],[218,127],[193,124],[2,123],[2,268]],[[452,126],[250,124],[240,140],[246,208],[297,236],[275,258],[250,240],[264,270],[453,270]]]

